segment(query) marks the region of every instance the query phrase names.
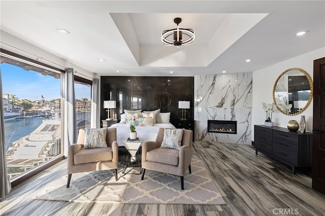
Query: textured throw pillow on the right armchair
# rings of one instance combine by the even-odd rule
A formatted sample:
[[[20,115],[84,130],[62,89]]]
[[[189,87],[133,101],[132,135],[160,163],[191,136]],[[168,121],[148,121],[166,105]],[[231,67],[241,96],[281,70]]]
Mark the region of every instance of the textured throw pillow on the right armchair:
[[[168,129],[165,128],[164,140],[160,148],[179,149],[182,145],[184,129]]]

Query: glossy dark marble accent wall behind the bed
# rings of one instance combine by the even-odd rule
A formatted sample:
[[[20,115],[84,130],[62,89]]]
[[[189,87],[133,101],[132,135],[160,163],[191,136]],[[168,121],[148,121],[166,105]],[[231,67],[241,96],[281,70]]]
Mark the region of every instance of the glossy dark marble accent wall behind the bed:
[[[132,102],[132,98],[136,98],[137,102]],[[116,100],[118,119],[123,110],[151,111],[160,108],[161,113],[171,112],[171,122],[181,118],[178,101],[186,100],[190,101],[189,119],[193,119],[194,77],[102,76],[101,120],[107,118],[107,110],[103,108],[104,100]]]

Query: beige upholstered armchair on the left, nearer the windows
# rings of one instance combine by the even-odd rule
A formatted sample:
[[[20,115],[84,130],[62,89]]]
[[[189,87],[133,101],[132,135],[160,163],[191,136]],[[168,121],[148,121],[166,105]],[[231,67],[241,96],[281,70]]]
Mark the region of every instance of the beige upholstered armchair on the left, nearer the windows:
[[[77,143],[68,149],[68,182],[70,186],[73,173],[114,169],[117,181],[118,147],[116,128],[107,128],[107,148],[84,149],[86,130],[80,129]]]

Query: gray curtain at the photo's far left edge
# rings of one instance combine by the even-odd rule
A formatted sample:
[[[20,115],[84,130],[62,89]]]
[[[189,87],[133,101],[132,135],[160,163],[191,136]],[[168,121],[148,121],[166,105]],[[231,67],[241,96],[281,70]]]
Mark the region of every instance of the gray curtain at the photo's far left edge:
[[[7,155],[6,155],[6,141],[5,141],[5,124],[4,124],[4,104],[2,99],[2,79],[1,79],[1,69],[0,69],[0,199],[5,198],[11,190],[11,184],[7,174]]]

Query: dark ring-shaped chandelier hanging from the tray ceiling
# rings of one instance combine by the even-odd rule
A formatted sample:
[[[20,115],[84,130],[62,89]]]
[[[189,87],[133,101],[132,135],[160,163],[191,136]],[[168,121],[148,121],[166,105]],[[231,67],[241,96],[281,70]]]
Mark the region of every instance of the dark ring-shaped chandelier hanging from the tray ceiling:
[[[174,22],[177,24],[177,28],[164,30],[161,32],[161,41],[165,46],[181,46],[190,45],[194,38],[194,30],[191,28],[179,28],[178,24],[181,23],[182,19],[177,17]]]

